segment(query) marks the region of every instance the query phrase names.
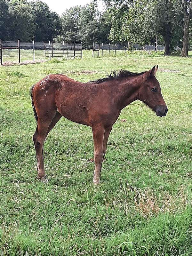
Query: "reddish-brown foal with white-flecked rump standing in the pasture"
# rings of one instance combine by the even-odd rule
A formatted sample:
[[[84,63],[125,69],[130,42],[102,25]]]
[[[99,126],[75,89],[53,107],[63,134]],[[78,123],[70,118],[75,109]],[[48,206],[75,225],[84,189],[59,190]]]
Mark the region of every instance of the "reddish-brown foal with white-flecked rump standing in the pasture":
[[[101,167],[109,134],[121,110],[135,100],[144,102],[157,116],[166,116],[167,106],[156,79],[158,66],[133,73],[121,69],[106,78],[82,83],[63,74],[44,77],[31,87],[31,100],[37,121],[33,141],[37,172],[45,179],[43,147],[48,133],[62,116],[92,128],[94,140],[93,183],[100,183]]]

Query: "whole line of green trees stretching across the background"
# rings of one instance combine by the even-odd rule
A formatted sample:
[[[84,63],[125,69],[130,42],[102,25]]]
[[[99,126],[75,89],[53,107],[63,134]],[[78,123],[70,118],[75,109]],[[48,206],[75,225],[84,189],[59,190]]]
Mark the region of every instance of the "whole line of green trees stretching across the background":
[[[165,54],[175,46],[182,56],[192,47],[192,0],[104,0],[75,6],[60,17],[41,1],[0,0],[0,38],[21,41],[82,41],[165,44]]]

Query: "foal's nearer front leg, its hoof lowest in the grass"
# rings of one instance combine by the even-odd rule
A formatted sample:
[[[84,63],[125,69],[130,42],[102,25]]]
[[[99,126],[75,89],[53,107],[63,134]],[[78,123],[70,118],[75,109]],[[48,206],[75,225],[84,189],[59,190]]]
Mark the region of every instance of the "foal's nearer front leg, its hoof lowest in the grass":
[[[101,167],[103,162],[103,139],[104,139],[105,129],[101,124],[99,124],[97,126],[92,127],[92,132],[93,132],[93,140],[94,140],[94,162],[95,162],[93,183],[99,184]]]

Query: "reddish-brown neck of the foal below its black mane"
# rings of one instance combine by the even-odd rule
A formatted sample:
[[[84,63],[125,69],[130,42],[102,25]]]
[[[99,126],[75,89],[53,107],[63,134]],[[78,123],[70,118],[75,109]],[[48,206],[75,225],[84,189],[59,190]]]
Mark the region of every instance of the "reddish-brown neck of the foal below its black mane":
[[[118,103],[121,109],[139,99],[141,77],[130,77],[118,83]]]

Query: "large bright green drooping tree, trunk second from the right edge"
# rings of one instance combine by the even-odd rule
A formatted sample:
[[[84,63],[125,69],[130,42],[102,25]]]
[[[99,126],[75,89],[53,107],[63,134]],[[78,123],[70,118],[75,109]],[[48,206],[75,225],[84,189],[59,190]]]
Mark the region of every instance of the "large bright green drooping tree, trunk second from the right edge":
[[[178,32],[175,25],[181,17],[173,11],[172,0],[106,0],[111,3],[112,25],[109,38],[112,41],[132,41],[146,44],[158,32],[165,42],[165,55],[170,55],[172,38]],[[141,36],[142,35],[142,36]],[[179,38],[178,38],[179,41]]]

